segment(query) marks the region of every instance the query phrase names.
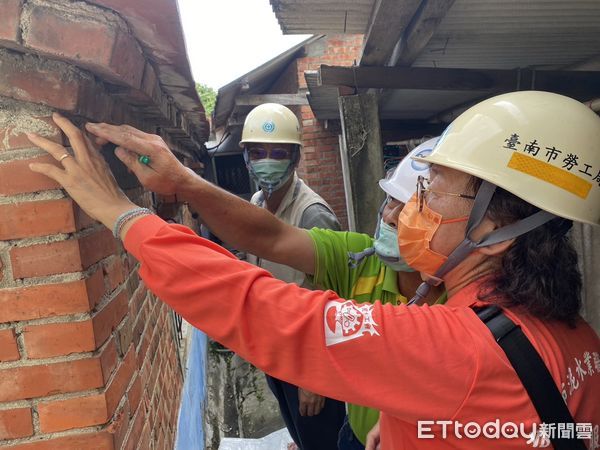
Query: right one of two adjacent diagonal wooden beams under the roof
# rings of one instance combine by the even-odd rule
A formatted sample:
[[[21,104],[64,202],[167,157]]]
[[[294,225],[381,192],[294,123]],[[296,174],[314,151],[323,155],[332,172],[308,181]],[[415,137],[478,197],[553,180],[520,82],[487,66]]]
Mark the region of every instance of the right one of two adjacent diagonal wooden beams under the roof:
[[[424,0],[390,58],[391,66],[409,67],[433,37],[455,0]]]

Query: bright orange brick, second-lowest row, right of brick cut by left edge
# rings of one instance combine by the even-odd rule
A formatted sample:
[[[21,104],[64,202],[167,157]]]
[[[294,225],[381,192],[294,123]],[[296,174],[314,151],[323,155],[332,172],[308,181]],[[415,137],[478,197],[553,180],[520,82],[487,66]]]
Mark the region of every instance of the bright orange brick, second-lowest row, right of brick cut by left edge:
[[[38,414],[43,433],[101,425],[108,420],[104,394],[40,403]]]

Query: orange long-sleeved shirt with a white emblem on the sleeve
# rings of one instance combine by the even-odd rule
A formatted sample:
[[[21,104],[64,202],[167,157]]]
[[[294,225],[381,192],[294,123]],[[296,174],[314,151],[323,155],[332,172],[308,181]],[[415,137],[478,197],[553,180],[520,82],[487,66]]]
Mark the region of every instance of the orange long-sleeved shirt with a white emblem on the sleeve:
[[[356,305],[332,291],[309,291],[276,280],[188,228],[155,216],[131,227],[125,247],[140,261],[140,275],[156,295],[261,370],[322,395],[381,410],[384,450],[535,446],[533,439],[528,444],[522,437],[471,439],[464,430],[440,422],[418,427],[420,420],[480,426],[499,420],[500,426],[523,423],[530,431],[539,422],[502,349],[470,308],[476,303],[476,283],[445,306]],[[570,329],[507,314],[540,352],[576,422],[586,424],[579,431],[590,432],[588,447],[595,448],[598,336],[583,320]],[[503,435],[514,434],[510,431]]]

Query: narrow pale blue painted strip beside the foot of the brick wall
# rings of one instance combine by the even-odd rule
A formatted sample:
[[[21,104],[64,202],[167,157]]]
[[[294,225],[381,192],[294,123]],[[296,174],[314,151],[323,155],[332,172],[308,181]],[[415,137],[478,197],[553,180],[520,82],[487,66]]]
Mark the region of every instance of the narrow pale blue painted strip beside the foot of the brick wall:
[[[206,343],[206,335],[193,328],[179,409],[176,450],[204,450],[202,413],[206,397]]]

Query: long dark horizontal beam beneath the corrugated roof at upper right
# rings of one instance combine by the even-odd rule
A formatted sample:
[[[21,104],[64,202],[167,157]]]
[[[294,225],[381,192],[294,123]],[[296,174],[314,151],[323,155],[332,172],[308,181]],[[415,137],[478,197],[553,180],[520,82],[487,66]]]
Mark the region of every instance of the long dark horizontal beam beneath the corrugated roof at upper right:
[[[322,65],[321,85],[358,89],[424,89],[483,93],[538,89],[578,100],[600,96],[600,72],[431,67],[337,67]]]

